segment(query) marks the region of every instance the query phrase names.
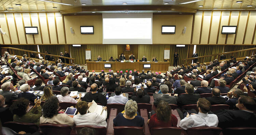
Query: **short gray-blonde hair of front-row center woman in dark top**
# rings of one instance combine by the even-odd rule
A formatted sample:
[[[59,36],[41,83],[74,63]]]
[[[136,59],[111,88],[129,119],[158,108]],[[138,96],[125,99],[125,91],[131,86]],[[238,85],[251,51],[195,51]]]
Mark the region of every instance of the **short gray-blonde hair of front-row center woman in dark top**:
[[[128,100],[125,104],[125,115],[132,117],[136,114],[138,109],[137,102],[133,100]]]

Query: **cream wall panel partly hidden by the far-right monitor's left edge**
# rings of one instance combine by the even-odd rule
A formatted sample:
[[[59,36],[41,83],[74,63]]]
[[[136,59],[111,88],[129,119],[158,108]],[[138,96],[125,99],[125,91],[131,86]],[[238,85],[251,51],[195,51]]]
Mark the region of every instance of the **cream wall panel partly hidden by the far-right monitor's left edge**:
[[[229,11],[223,11],[222,12],[221,26],[219,28],[220,31],[219,31],[218,44],[225,44],[226,34],[221,34],[221,31],[222,31],[222,26],[223,25],[228,25],[229,16],[230,16]]]

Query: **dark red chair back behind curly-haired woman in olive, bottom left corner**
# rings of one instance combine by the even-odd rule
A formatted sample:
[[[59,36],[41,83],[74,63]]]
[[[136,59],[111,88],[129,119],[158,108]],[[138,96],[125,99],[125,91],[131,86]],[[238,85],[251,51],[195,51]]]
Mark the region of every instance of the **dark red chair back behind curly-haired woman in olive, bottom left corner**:
[[[26,133],[34,133],[38,131],[38,126],[34,123],[4,122],[3,127],[8,127],[15,132],[25,131]]]

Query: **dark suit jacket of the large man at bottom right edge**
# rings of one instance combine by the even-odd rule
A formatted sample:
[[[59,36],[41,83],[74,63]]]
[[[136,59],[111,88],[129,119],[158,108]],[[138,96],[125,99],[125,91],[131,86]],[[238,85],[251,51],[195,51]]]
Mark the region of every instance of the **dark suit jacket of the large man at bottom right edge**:
[[[218,127],[256,127],[256,114],[243,110],[225,110],[218,117]]]

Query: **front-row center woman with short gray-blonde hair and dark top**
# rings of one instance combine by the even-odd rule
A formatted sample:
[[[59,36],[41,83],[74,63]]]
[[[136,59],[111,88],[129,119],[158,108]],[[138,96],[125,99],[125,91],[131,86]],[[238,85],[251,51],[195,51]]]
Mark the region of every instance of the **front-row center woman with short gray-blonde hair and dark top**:
[[[136,126],[143,127],[144,118],[136,115],[137,113],[137,103],[136,101],[129,100],[125,104],[125,114],[118,113],[116,117],[113,119],[114,126]]]

